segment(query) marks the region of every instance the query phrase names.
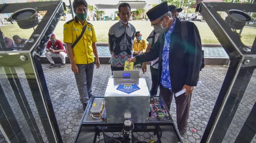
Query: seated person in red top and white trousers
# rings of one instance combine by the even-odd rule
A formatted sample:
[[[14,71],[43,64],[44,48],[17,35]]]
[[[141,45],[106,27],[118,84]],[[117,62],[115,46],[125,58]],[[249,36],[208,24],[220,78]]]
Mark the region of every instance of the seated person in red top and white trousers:
[[[62,42],[57,40],[54,34],[51,35],[45,50],[45,57],[47,57],[48,61],[51,63],[49,68],[53,68],[55,66],[52,57],[60,57],[60,59],[62,59],[62,64],[59,67],[64,67],[66,65],[66,51]]]

